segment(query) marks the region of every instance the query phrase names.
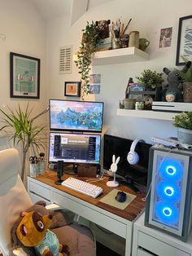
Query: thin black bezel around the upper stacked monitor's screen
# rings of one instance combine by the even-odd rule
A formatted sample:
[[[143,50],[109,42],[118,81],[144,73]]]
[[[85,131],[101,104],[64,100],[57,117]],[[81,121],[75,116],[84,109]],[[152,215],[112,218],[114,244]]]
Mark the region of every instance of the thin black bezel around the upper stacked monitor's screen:
[[[86,100],[71,100],[71,99],[49,99],[49,109],[50,109],[50,101],[56,100],[56,101],[63,101],[63,102],[77,102],[77,103],[90,103],[90,104],[102,104],[103,105],[103,112],[104,112],[104,102],[101,101],[86,101]],[[103,112],[102,112],[102,125],[100,130],[87,130],[87,129],[59,129],[59,128],[51,128],[50,131],[63,131],[63,132],[82,132],[82,133],[102,133],[103,130]],[[50,121],[50,111],[49,111],[49,121]]]

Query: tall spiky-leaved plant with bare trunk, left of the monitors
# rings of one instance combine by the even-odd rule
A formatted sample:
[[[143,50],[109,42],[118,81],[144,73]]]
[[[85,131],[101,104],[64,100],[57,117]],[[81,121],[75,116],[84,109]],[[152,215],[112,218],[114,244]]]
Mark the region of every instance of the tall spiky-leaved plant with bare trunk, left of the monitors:
[[[18,109],[15,109],[15,111],[11,110],[9,107],[7,108],[7,111],[0,108],[0,112],[3,116],[0,121],[3,126],[0,128],[0,130],[7,131],[7,129],[10,129],[12,132],[11,139],[13,139],[14,145],[19,143],[21,145],[23,157],[20,177],[22,181],[24,181],[24,169],[28,149],[30,146],[32,146],[33,150],[35,151],[36,149],[38,152],[39,148],[44,147],[45,142],[44,139],[40,137],[41,132],[45,129],[45,126],[35,125],[34,121],[46,113],[48,109],[41,112],[36,117],[31,117],[32,109],[28,108],[28,104],[24,111],[20,108],[20,104]]]

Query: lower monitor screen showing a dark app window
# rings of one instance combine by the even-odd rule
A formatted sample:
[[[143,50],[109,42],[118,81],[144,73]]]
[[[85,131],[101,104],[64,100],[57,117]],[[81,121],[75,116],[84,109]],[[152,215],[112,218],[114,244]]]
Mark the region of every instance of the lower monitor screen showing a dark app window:
[[[101,135],[50,132],[49,161],[99,164]]]

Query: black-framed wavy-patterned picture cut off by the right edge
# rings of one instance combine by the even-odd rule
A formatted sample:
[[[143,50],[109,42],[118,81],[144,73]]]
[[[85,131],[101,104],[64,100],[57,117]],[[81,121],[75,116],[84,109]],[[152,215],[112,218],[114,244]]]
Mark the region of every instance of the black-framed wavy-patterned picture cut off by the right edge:
[[[176,65],[184,65],[185,60],[192,60],[192,15],[179,19]]]

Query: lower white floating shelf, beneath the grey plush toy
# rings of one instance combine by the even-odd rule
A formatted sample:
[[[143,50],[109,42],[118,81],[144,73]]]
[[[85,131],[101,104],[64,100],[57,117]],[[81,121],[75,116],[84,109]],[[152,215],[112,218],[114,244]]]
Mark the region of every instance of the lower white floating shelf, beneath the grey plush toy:
[[[157,120],[173,121],[172,117],[175,117],[178,113],[160,112],[152,110],[134,110],[134,109],[117,109],[117,116],[124,117],[142,117]]]

